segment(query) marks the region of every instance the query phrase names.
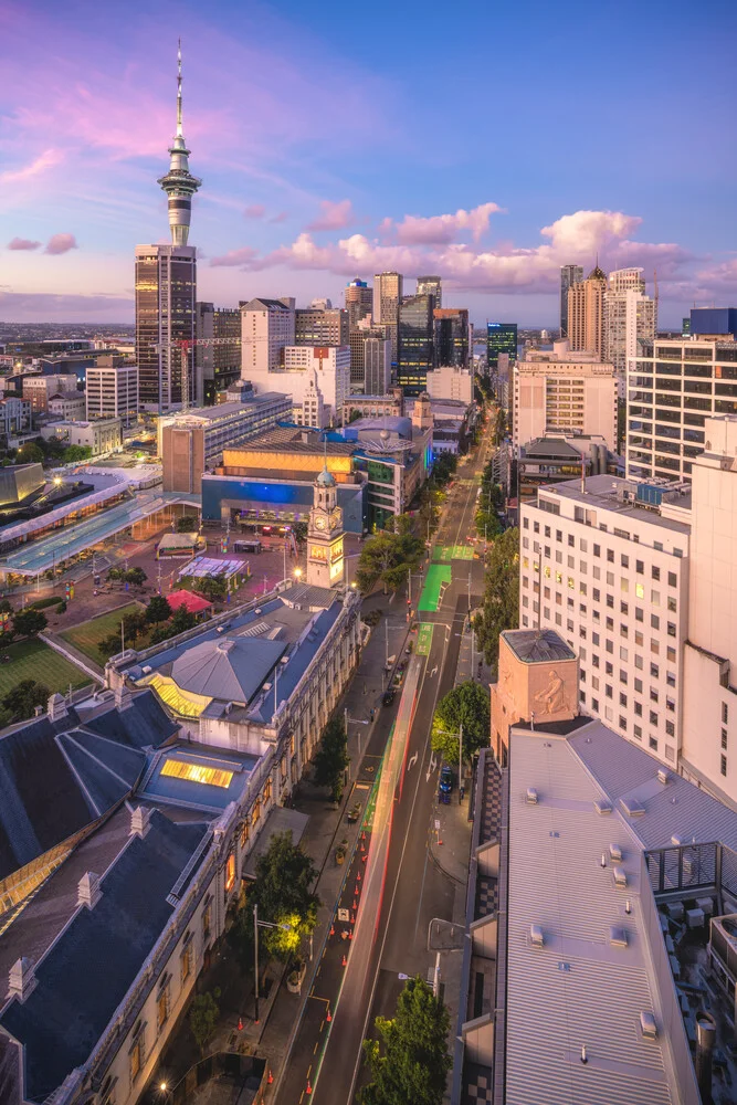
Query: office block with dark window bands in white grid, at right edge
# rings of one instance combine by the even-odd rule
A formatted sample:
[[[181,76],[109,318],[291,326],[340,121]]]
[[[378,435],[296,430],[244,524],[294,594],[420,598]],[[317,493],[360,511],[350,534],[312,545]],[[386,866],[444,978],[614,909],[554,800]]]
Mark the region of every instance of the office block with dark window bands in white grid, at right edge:
[[[643,343],[627,385],[628,476],[691,481],[706,419],[737,414],[737,344],[730,335]]]

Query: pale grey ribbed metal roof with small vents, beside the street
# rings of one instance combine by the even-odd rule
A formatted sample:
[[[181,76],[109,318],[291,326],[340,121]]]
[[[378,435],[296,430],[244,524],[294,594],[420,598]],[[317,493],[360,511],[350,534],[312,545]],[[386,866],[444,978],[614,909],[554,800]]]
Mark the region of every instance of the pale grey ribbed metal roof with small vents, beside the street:
[[[576,754],[578,739],[512,733],[506,1105],[677,1103],[672,1049],[685,1036],[664,1018],[641,850],[623,815],[596,811],[601,790]],[[610,844],[622,850],[624,890],[614,885]],[[533,945],[533,925],[543,947]],[[612,945],[612,927],[627,934],[625,947]],[[655,1040],[643,1038],[641,1012],[654,1015]]]

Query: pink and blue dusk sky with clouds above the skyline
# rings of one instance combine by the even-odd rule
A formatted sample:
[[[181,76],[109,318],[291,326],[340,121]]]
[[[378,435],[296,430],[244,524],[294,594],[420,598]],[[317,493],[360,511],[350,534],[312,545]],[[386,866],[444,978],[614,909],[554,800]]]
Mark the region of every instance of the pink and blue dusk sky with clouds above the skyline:
[[[698,123],[707,147],[728,125],[734,76],[715,52],[734,41],[735,15],[706,6],[707,18],[709,9],[719,13],[720,40],[708,56],[691,46],[688,73],[676,84],[660,57],[681,34],[678,10],[686,9],[670,8],[666,21],[661,8],[640,12],[625,73],[617,53],[597,56],[596,80],[609,90],[600,117],[576,84],[550,88],[540,66],[547,59],[556,69],[575,67],[591,56],[603,15],[581,28],[571,13],[558,25],[544,6],[528,3],[516,15],[495,12],[492,22],[484,6],[462,4],[456,14],[475,21],[475,38],[519,49],[498,55],[493,93],[473,65],[457,88],[439,75],[439,107],[434,98],[418,102],[419,62],[400,72],[396,46],[378,59],[368,41],[348,34],[349,20],[331,19],[338,9],[330,3],[322,6],[319,25],[294,3],[246,17],[220,2],[204,21],[188,4],[148,14],[136,3],[113,13],[82,2],[63,22],[45,2],[2,4],[9,63],[0,317],[133,320],[131,249],[168,240],[155,180],[166,171],[173,135],[179,34],[192,168],[204,179],[191,242],[206,299],[233,305],[293,294],[301,304],[315,295],[339,303],[354,276],[371,283],[383,270],[409,281],[438,272],[448,306],[467,305],[477,325],[497,318],[555,327],[560,265],[589,271],[598,254],[607,271],[642,265],[649,291],[657,269],[664,328],[677,326],[694,302],[730,303],[737,260],[724,233],[733,224],[724,181],[735,154],[722,152],[718,170],[697,159],[696,175],[682,136]],[[527,23],[533,12],[535,31]],[[630,3],[618,18],[628,13]],[[400,39],[403,29],[400,20]],[[478,44],[434,17],[421,36],[431,49],[442,44],[449,62],[462,51],[480,59]],[[88,64],[78,66],[85,56]],[[524,90],[513,82],[523,63]],[[656,134],[633,123],[645,93]],[[587,134],[582,151],[566,128],[551,127],[556,110],[573,105]],[[517,136],[510,164],[489,141],[499,116]],[[561,117],[570,129],[572,116]],[[598,131],[590,129],[594,117]],[[451,118],[454,135],[470,141],[438,140]]]

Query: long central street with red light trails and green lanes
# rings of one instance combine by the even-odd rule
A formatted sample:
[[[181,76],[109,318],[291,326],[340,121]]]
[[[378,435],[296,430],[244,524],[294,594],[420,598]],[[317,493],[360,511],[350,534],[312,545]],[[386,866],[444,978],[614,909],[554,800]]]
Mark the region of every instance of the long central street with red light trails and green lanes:
[[[485,436],[476,457],[461,465],[436,544],[467,545],[487,453]],[[438,789],[430,730],[435,703],[453,686],[468,594],[473,607],[482,589],[481,561],[454,560],[438,611],[419,615],[433,624],[432,640],[424,634],[425,654],[413,655],[408,665],[393,727],[387,734],[386,724],[377,726],[367,749],[359,783],[367,793],[372,787],[370,812],[331,935],[318,949],[320,966],[287,1056],[278,1105],[304,1105],[310,1095],[325,1105],[352,1101],[362,1077],[362,1040],[377,1015],[393,1014],[403,986],[399,976],[425,977],[434,962],[427,950],[430,920],[452,918],[455,887],[428,849]]]

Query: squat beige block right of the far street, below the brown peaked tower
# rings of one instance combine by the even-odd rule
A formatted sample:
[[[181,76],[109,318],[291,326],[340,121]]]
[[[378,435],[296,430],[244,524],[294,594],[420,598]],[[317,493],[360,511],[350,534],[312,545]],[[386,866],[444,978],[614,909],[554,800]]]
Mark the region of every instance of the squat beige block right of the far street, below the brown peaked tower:
[[[568,341],[535,350],[513,369],[513,444],[546,434],[601,438],[617,451],[617,380],[611,365],[571,352]]]

